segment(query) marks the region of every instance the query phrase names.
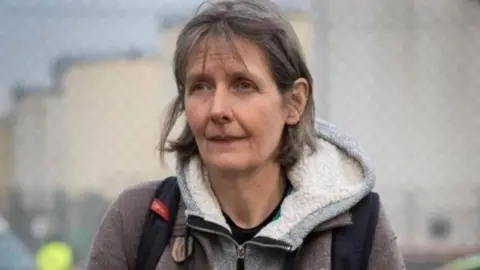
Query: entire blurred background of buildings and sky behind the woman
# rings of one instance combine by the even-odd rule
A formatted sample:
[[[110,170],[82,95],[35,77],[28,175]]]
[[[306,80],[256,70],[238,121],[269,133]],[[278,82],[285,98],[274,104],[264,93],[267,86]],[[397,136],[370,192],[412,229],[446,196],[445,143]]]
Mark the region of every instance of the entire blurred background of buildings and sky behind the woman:
[[[373,160],[408,269],[480,253],[480,1],[277,2],[318,117]],[[172,174],[156,144],[175,38],[199,3],[0,1],[0,235],[25,251],[0,262],[55,235],[81,265],[112,200]]]

